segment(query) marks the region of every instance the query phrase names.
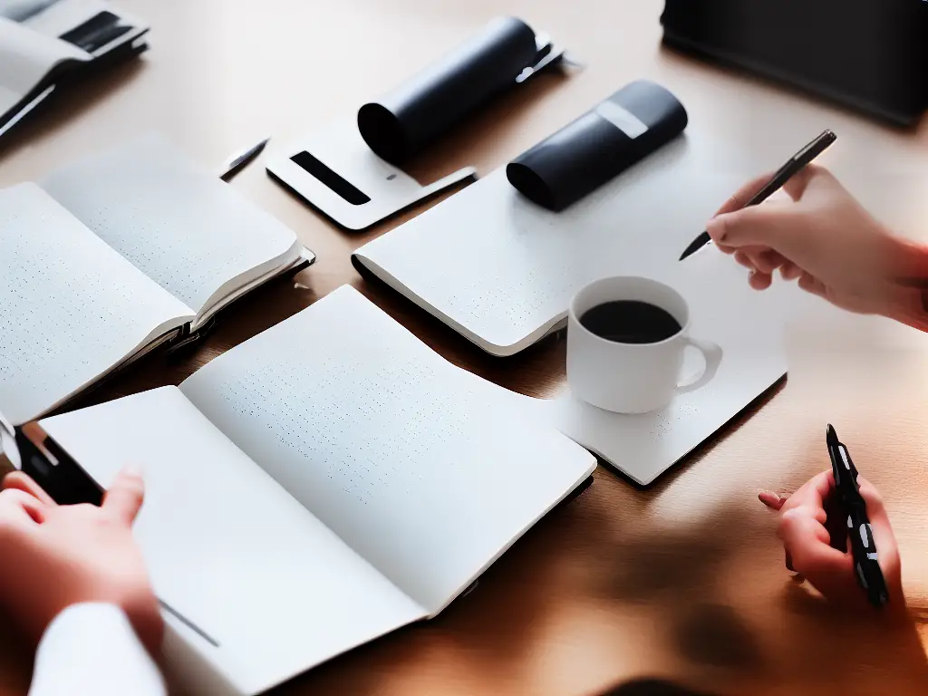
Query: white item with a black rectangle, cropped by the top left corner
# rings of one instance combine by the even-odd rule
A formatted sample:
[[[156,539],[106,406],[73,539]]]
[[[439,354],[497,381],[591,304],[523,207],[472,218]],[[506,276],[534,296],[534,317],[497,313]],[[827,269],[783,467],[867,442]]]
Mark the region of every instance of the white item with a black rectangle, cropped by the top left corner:
[[[103,0],[0,0],[0,135],[59,85],[138,55],[147,32]]]

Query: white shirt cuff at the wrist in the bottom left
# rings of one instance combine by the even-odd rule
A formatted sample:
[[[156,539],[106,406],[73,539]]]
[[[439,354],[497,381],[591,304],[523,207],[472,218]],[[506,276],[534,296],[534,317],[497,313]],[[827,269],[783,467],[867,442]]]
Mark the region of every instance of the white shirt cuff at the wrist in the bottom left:
[[[111,604],[76,604],[45,629],[29,696],[166,696],[158,666]]]

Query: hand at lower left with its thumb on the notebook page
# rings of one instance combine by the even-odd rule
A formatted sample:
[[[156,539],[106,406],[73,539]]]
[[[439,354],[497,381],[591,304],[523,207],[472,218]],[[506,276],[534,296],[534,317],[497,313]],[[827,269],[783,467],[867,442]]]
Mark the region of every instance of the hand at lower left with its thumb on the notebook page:
[[[73,604],[122,608],[148,651],[161,649],[163,623],[132,523],[144,483],[123,471],[103,504],[58,506],[25,474],[0,491],[0,606],[37,644]]]

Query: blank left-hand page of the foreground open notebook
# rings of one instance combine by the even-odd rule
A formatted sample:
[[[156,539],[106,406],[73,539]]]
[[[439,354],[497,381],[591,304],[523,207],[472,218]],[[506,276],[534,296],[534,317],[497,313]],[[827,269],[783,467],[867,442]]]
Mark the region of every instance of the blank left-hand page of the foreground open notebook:
[[[240,693],[259,693],[424,613],[217,431],[175,387],[42,422],[107,487],[145,472],[135,521],[159,598]]]

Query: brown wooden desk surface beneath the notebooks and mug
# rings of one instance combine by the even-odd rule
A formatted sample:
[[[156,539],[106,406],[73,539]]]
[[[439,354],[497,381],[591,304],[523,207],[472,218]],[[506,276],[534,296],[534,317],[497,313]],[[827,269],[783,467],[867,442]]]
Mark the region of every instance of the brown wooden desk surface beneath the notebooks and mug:
[[[152,24],[150,53],[86,84],[81,100],[71,97],[23,124],[0,150],[0,186],[152,129],[217,165],[264,134],[274,137],[273,147],[356,109],[503,13],[552,32],[588,67],[569,79],[539,79],[474,119],[416,164],[411,173],[423,181],[471,164],[487,174],[639,77],[676,91],[691,127],[740,138],[763,167],[779,165],[822,126],[850,145],[838,161],[846,158],[851,178],[864,164],[907,174],[908,165],[896,167],[896,154],[924,160],[928,148],[928,127],[893,132],[664,51],[660,0],[128,5]],[[928,217],[917,191],[925,181],[905,175],[885,181],[886,188],[868,190],[903,200],[886,206],[898,216],[894,222],[924,228]],[[343,283],[486,379],[540,396],[561,388],[562,342],[492,359],[356,276],[350,252],[399,220],[362,235],[339,231],[273,183],[262,161],[233,186],[296,230],[318,254],[316,266],[296,287],[278,284],[241,303],[183,364],[147,359],[87,403],[179,383]],[[842,360],[806,351],[785,386],[652,489],[634,490],[599,470],[590,490],[526,535],[476,592],[439,619],[343,656],[280,692],[583,696],[665,677],[718,694],[924,693],[928,392],[919,383],[928,370],[917,352],[889,350],[860,350]],[[836,615],[795,586],[783,569],[773,519],[756,500],[761,488],[789,491],[826,467],[827,419],[841,424],[861,469],[887,498],[912,604],[905,628]],[[10,638],[4,643],[0,692],[22,693],[30,657]]]

